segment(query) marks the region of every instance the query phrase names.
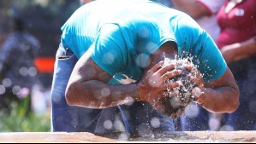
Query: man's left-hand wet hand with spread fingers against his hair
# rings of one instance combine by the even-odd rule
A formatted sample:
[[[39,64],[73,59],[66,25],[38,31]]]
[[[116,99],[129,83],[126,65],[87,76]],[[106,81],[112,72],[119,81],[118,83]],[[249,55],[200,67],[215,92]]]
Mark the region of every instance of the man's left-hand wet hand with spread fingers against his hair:
[[[163,66],[163,63],[164,61],[160,61],[146,72],[137,87],[140,101],[148,101],[158,112],[164,111],[159,99],[166,96],[164,94],[168,89],[179,87],[179,83],[165,83],[166,80],[182,74],[181,70],[174,70],[174,64]]]

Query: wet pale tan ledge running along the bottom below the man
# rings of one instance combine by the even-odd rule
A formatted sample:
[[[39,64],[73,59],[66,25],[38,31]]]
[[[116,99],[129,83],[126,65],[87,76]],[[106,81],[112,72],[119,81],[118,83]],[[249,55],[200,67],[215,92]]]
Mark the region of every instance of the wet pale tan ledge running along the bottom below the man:
[[[120,135],[119,135],[120,136]],[[110,138],[111,137],[111,138]],[[170,142],[256,142],[256,131],[186,131],[153,134],[144,137],[118,140],[115,136],[98,136],[90,133],[19,132],[0,133],[1,143],[170,143]]]

